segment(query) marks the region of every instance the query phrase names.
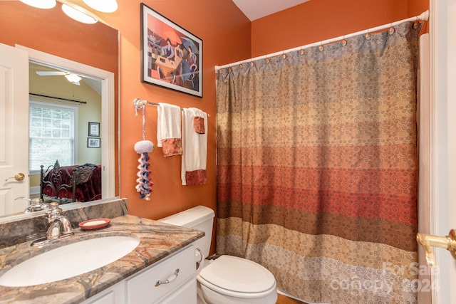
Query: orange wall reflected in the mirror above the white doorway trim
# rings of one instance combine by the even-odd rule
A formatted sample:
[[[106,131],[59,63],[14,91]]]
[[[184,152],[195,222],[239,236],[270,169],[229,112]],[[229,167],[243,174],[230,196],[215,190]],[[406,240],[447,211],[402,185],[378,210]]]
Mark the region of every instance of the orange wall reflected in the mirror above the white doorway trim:
[[[113,43],[118,41],[118,32],[102,23],[75,22],[58,6],[36,9],[20,1],[1,1],[0,31],[1,43],[17,43],[118,73],[118,44]]]

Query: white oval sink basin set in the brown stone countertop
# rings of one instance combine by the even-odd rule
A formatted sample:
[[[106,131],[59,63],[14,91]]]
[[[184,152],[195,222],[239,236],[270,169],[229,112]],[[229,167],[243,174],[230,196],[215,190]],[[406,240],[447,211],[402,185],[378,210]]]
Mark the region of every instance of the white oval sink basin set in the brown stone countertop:
[[[135,236],[104,236],[71,243],[19,263],[0,277],[0,285],[31,286],[79,276],[117,261],[139,243]]]

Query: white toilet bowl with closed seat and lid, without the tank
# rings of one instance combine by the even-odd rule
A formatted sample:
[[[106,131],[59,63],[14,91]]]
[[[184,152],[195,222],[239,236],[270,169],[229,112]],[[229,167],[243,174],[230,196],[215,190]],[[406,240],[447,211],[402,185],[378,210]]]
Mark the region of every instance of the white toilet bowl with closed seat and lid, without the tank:
[[[266,268],[236,256],[220,256],[197,276],[207,304],[275,304],[276,280]]]

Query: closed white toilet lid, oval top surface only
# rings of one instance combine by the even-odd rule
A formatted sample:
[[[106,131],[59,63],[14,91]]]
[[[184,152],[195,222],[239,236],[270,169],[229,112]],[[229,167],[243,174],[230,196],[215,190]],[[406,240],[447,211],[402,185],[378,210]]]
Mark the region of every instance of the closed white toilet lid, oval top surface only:
[[[261,293],[276,283],[272,273],[259,263],[236,256],[220,256],[199,276],[219,288],[239,293]]]

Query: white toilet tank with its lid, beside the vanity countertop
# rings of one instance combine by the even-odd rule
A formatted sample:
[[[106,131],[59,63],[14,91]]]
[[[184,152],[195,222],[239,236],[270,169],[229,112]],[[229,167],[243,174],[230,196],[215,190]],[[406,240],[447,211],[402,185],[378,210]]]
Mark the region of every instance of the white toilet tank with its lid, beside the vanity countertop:
[[[204,257],[207,257],[211,247],[214,216],[214,210],[206,206],[196,206],[159,219],[158,221],[204,231],[205,235],[201,239],[195,241],[195,246],[201,249]]]

